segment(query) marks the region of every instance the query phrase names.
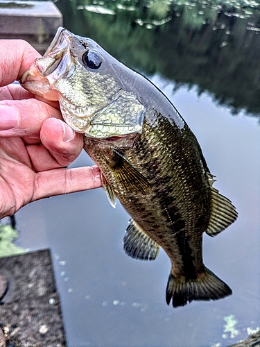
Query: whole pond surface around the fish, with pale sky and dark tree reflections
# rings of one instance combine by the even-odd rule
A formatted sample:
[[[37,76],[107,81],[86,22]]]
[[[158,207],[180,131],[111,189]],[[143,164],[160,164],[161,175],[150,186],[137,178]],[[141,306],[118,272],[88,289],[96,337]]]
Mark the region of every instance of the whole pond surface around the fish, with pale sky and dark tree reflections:
[[[234,1],[56,4],[69,30],[150,75],[173,101],[198,137],[216,187],[239,211],[223,235],[205,237],[203,252],[233,295],[173,310],[164,302],[166,255],[144,263],[123,253],[129,217],[120,205],[110,208],[101,189],[21,209],[19,246],[51,247],[69,346],[225,347],[245,339],[260,325],[260,131],[255,119],[245,117],[260,113],[258,8]],[[245,112],[231,117],[212,99]],[[73,165],[90,162],[83,153]]]

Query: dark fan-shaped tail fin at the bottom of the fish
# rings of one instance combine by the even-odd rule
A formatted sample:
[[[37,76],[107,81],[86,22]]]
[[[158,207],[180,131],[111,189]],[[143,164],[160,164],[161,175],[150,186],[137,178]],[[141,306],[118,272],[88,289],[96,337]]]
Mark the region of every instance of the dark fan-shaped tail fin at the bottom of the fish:
[[[232,290],[214,273],[205,268],[197,278],[175,277],[171,271],[166,289],[166,302],[173,307],[184,306],[193,300],[209,301],[225,298]]]

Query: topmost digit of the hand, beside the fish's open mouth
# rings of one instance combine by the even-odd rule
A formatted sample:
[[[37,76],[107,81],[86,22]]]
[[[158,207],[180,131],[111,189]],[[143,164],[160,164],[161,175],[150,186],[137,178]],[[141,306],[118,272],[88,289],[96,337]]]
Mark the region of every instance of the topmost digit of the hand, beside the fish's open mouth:
[[[24,40],[0,40],[0,51],[0,87],[19,80],[41,56]]]

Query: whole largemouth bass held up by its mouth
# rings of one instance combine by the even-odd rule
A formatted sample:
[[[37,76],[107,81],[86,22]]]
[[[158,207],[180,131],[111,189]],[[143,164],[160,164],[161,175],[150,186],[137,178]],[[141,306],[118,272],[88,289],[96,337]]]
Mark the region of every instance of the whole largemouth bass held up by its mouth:
[[[59,28],[21,85],[58,100],[64,121],[84,134],[110,203],[118,198],[132,217],[125,252],[154,260],[164,249],[172,265],[168,304],[232,294],[203,264],[202,234],[227,228],[236,209],[213,187],[196,137],[153,83],[93,40]]]

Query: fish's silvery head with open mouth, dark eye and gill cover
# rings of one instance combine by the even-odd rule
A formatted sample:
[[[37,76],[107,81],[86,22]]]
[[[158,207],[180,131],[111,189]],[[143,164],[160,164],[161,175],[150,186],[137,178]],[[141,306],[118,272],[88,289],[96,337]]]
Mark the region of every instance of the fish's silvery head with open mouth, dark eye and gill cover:
[[[141,133],[146,108],[132,87],[136,75],[93,40],[58,28],[20,83],[58,100],[64,121],[78,133],[107,139]]]

